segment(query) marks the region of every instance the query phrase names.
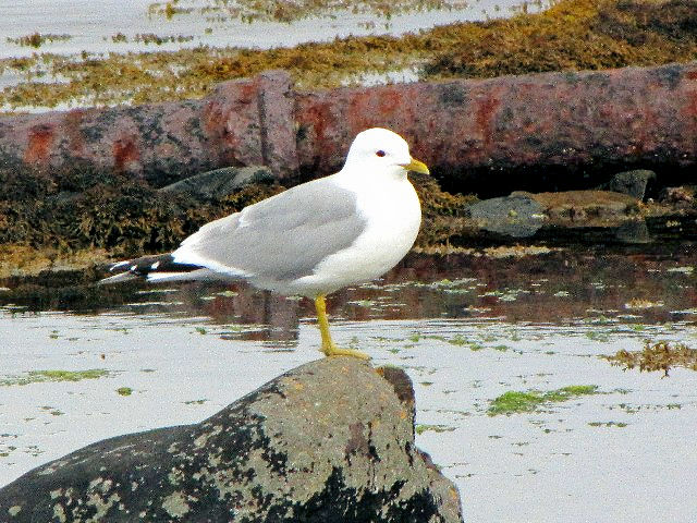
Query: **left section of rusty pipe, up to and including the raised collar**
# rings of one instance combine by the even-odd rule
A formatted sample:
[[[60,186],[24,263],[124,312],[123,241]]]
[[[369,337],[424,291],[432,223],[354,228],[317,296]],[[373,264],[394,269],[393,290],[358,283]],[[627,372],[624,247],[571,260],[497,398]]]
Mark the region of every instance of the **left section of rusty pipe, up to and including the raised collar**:
[[[0,171],[98,172],[162,186],[222,166],[259,166],[294,175],[291,77],[268,71],[218,84],[200,100],[73,109],[0,118]]]

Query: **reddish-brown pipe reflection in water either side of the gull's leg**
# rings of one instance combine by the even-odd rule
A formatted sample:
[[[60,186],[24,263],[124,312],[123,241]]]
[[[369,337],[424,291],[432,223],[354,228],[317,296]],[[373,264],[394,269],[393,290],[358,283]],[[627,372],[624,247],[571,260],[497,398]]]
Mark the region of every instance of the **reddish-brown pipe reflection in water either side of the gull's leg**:
[[[329,312],[352,321],[500,317],[513,323],[656,324],[693,319],[696,263],[694,254],[598,257],[560,252],[521,259],[413,255],[378,282],[337,292],[329,300]],[[186,314],[204,314],[217,324],[267,325],[266,339],[295,339],[299,319],[314,316],[309,300],[288,300],[245,284],[230,290],[220,293],[216,287],[189,284],[168,299],[182,301]],[[259,336],[255,332],[254,339]]]

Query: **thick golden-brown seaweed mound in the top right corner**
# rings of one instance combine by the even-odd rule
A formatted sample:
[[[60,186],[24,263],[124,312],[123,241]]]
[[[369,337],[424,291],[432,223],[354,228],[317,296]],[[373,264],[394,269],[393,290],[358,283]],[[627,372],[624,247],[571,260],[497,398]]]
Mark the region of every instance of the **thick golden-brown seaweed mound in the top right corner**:
[[[659,65],[697,58],[694,0],[564,0],[539,14],[433,29],[456,48],[436,53],[425,77],[491,77]]]

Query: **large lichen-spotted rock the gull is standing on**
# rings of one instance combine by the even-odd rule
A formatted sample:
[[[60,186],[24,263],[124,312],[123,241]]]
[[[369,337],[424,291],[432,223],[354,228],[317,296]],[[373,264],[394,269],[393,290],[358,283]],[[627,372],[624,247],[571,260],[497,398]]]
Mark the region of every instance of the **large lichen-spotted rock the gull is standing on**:
[[[382,374],[382,376],[381,376]],[[332,357],[195,425],[100,441],[0,490],[0,520],[458,522],[399,369]]]

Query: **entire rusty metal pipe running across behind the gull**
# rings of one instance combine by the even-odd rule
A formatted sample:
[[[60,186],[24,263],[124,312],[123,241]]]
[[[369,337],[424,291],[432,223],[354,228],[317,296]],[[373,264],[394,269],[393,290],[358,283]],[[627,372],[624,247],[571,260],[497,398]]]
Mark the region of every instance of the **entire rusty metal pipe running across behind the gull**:
[[[697,63],[294,92],[285,72],[203,100],[0,118],[0,169],[75,160],[163,185],[266,165],[335,170],[369,126],[405,135],[441,175],[697,160]]]

